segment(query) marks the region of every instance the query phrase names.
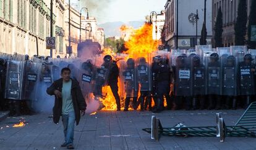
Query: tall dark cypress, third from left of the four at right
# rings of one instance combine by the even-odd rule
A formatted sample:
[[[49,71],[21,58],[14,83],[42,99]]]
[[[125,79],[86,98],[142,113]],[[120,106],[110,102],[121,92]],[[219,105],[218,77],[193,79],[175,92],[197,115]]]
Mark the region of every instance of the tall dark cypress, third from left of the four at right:
[[[246,1],[239,1],[236,24],[234,25],[235,45],[245,45],[246,23],[247,23]]]

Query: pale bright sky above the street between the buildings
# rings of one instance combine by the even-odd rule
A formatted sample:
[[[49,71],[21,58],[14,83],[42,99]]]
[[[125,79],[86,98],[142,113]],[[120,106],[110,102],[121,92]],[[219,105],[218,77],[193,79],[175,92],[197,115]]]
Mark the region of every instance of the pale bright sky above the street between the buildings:
[[[79,0],[71,0],[71,3]],[[106,22],[145,21],[151,11],[160,12],[167,0],[80,0],[98,24]]]

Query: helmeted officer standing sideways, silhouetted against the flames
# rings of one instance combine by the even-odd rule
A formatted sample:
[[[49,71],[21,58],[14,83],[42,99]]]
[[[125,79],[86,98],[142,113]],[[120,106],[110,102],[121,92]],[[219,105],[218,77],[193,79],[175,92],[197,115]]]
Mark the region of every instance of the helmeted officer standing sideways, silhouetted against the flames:
[[[114,98],[116,99],[116,106],[117,111],[121,111],[121,101],[120,97],[118,95],[118,76],[119,76],[119,69],[116,64],[116,61],[112,60],[112,57],[110,55],[106,55],[104,58],[103,66],[105,68],[109,68],[109,76],[108,76],[108,85],[111,88],[111,91],[114,95]]]

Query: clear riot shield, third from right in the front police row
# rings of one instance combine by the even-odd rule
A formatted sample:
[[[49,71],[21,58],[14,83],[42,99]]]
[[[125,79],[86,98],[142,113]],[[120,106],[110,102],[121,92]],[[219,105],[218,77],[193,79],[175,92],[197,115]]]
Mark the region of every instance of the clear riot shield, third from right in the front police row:
[[[215,53],[216,54],[216,53]],[[207,94],[221,94],[221,65],[219,57],[205,57],[207,68]]]

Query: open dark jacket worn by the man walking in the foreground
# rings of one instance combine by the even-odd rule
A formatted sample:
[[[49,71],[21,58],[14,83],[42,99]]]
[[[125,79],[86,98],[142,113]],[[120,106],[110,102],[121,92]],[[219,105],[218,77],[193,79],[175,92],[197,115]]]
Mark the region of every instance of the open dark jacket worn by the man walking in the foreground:
[[[75,110],[75,120],[77,122],[77,125],[79,124],[80,120],[80,110],[85,110],[86,109],[86,103],[85,99],[83,98],[79,82],[77,82],[74,79],[72,80],[72,85],[71,85],[71,95],[72,95],[72,102]],[[50,87],[46,90],[46,92],[49,95],[54,95],[54,90],[59,90],[61,92],[62,90],[62,82],[63,79],[58,79],[57,81],[54,81],[53,84],[51,84]],[[55,103],[53,106],[53,122],[55,124],[59,123],[59,118],[61,117],[62,113],[62,98],[57,98],[55,95]]]

